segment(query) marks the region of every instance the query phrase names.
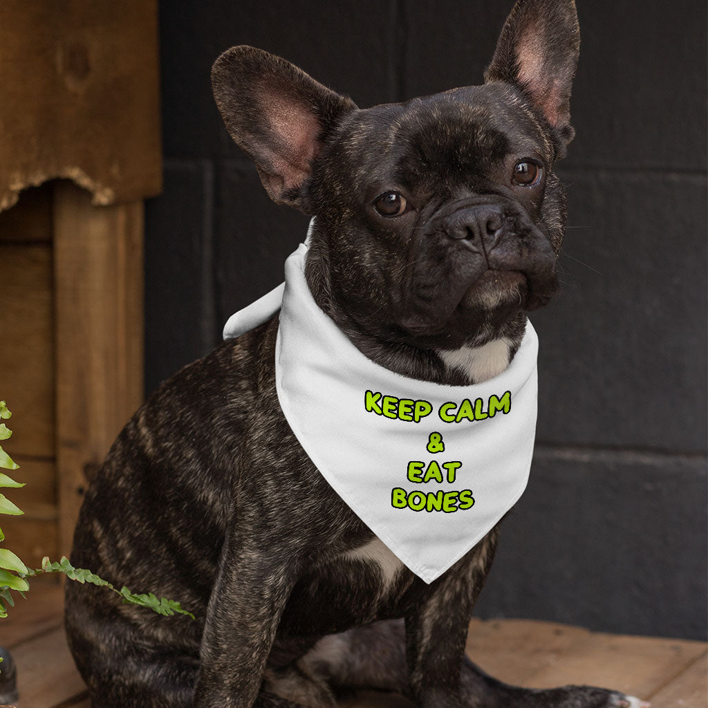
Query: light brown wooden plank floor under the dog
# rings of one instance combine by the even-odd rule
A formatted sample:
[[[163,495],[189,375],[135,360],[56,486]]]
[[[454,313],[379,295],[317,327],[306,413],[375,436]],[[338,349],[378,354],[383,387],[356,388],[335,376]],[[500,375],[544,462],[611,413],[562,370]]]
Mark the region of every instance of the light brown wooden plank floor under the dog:
[[[0,619],[0,645],[17,663],[17,708],[89,708],[62,628],[62,590],[35,581]],[[586,683],[612,687],[651,701],[652,708],[708,707],[708,645],[589,632],[530,619],[474,619],[467,653],[492,675],[529,687]],[[346,708],[410,706],[367,693]]]

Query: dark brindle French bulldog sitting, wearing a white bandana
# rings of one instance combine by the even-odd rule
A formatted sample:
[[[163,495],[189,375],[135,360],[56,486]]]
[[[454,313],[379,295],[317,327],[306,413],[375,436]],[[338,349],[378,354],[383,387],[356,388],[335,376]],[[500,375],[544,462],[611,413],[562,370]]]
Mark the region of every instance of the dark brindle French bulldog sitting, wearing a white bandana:
[[[227,130],[275,202],[315,217],[316,304],[377,364],[489,379],[556,292],[566,200],[552,168],[573,138],[578,47],[573,0],[519,0],[484,85],[365,109],[253,47],[217,59]],[[163,384],[86,493],[72,564],[196,615],[67,583],[93,707],[331,708],[357,688],[420,708],[646,705],[505,685],[464,658],[498,526],[433,583],[414,576],[288,426],[277,331],[276,315]]]

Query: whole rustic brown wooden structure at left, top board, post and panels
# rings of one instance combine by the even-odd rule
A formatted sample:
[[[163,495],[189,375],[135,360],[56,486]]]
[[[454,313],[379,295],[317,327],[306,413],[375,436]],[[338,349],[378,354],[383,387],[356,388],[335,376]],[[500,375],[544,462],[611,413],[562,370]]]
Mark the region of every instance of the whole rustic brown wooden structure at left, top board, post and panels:
[[[157,39],[156,0],[0,1],[0,263],[13,308],[4,302],[0,331],[15,374],[0,395],[33,423],[13,438],[33,483],[17,500],[27,515],[8,525],[25,561],[69,552],[81,491],[142,399],[142,200],[162,179]],[[11,212],[26,188],[66,178],[90,193],[62,182],[45,199],[52,183]]]

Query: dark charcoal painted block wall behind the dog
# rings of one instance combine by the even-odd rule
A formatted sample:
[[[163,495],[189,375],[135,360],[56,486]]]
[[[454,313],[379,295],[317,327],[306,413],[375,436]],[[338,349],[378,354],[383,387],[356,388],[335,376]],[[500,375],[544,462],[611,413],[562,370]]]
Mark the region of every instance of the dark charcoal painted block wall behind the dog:
[[[511,0],[162,0],[165,189],[147,208],[147,388],[282,280],[307,219],[273,205],[209,72],[248,43],[362,106],[477,84]],[[564,291],[535,313],[530,486],[483,616],[706,634],[706,7],[593,0],[559,173]]]

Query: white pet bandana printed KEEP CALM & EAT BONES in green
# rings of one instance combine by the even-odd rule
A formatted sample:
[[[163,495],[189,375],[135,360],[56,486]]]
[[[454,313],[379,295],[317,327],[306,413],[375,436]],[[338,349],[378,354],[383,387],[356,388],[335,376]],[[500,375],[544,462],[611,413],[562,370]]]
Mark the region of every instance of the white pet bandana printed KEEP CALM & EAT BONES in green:
[[[527,323],[510,365],[481,384],[401,376],[366,358],[319,309],[304,277],[306,244],[287,258],[284,286],[234,314],[224,338],[281,309],[275,385],[290,428],[343,501],[431,583],[526,487],[536,429],[536,332]]]

